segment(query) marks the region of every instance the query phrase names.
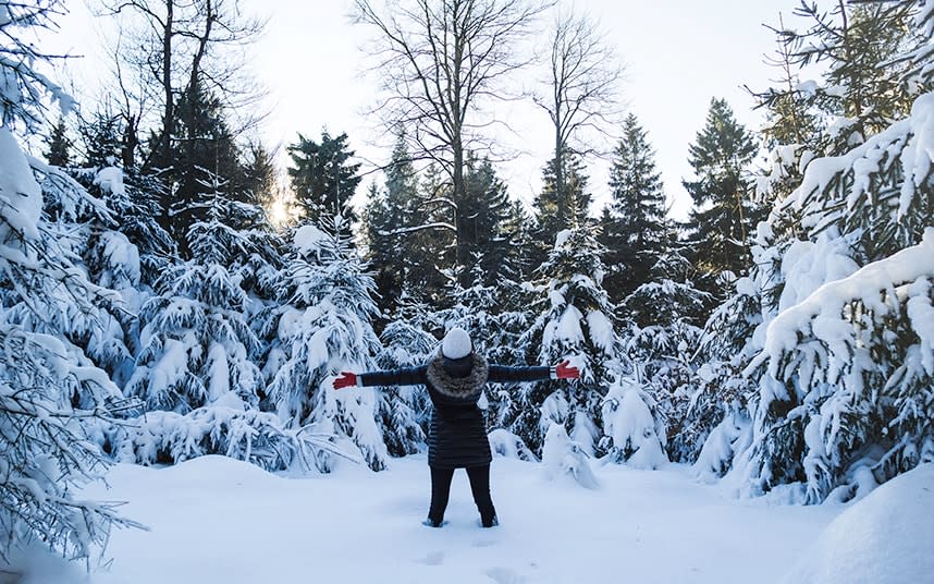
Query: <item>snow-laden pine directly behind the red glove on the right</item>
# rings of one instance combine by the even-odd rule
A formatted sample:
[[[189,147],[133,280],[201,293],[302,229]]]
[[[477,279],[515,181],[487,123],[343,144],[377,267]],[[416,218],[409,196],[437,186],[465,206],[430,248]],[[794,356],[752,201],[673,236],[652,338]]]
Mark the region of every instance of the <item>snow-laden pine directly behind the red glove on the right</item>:
[[[560,232],[539,268],[544,283],[534,306],[540,313],[520,344],[532,362],[569,360],[580,369],[580,380],[519,387],[516,401],[520,409],[511,426],[534,451],[540,451],[551,424],[563,424],[570,438],[593,454],[602,435],[603,396],[622,374],[613,305],[601,285],[603,248],[593,231],[593,227],[582,227]]]

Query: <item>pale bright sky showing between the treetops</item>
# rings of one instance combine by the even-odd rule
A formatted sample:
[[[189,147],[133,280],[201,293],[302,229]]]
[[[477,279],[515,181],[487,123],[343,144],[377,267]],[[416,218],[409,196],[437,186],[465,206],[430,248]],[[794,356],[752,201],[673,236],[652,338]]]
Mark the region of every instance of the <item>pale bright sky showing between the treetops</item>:
[[[379,139],[381,131],[372,117],[364,114],[373,104],[376,80],[365,74],[360,45],[373,32],[351,24],[351,1],[241,0],[241,4],[247,13],[269,17],[248,63],[269,92],[271,113],[263,125],[268,144],[282,145],[284,151],[298,132],[317,139],[327,126],[332,135],[346,132],[351,147],[362,157],[384,163],[389,153],[374,145],[384,142]],[[761,114],[752,111],[753,101],[741,87],[762,89],[776,76],[763,62],[776,45],[762,23],[775,24],[778,11],[788,14],[797,1],[576,0],[574,4],[597,20],[626,65],[620,95],[627,112],[635,113],[648,132],[673,215],[684,218],[690,205],[681,186],[681,179],[691,172],[688,145],[703,126],[711,98],[725,98],[747,127],[760,125]],[[83,0],[66,0],[65,5],[73,14],[63,21],[60,47],[94,61],[100,56],[99,40],[87,33]],[[82,83],[82,75],[76,78]],[[541,168],[551,158],[550,122],[531,106],[505,115],[518,135],[503,139],[525,154],[497,170],[513,196],[531,202],[541,184]],[[606,163],[593,161],[589,172],[602,207]]]

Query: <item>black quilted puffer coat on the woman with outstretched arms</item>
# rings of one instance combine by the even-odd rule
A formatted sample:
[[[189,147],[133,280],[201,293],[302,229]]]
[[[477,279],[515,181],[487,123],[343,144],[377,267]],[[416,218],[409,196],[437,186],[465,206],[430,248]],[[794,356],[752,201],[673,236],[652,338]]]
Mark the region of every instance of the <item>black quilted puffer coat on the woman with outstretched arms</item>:
[[[407,369],[370,372],[358,376],[364,386],[423,385],[434,409],[428,434],[428,464],[434,469],[466,469],[490,464],[490,441],[483,412],[477,400],[489,382],[549,379],[551,367],[505,367],[489,365],[480,355],[470,355],[471,366],[464,377],[454,377],[435,355],[427,365]]]

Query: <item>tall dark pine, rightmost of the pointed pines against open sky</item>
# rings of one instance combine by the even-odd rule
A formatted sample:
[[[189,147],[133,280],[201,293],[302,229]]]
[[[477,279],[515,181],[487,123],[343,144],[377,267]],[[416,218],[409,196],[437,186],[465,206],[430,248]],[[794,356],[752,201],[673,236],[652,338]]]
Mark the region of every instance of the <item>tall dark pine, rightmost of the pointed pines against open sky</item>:
[[[689,241],[702,271],[742,275],[749,239],[761,211],[750,198],[747,167],[755,154],[752,136],[723,99],[712,99],[706,123],[690,146],[696,181],[684,185],[695,203]]]

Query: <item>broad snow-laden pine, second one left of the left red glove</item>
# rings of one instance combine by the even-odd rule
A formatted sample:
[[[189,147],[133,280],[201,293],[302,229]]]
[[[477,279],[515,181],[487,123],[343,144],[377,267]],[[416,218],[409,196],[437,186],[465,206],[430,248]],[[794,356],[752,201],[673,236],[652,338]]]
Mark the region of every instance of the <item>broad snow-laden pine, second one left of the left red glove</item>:
[[[229,200],[220,183],[210,187],[206,220],[188,230],[192,258],[165,270],[140,313],[140,351],[126,392],[148,412],[121,434],[121,457],[151,464],[220,453],[268,470],[307,466],[314,441],[258,409],[259,340],[239,270],[262,254],[255,233],[228,224],[257,211]]]

